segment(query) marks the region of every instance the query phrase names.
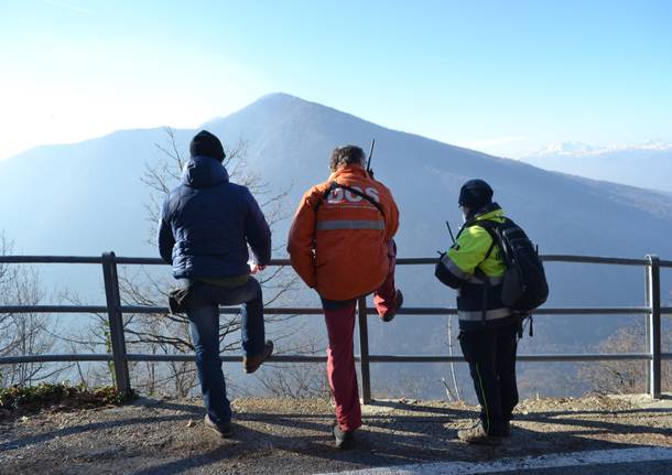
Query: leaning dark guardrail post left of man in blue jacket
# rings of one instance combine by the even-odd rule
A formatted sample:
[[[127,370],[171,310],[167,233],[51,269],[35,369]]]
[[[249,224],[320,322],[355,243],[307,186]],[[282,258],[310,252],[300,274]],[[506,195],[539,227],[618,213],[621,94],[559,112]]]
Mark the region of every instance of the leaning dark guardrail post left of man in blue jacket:
[[[115,252],[102,253],[102,278],[105,281],[105,296],[107,299],[107,313],[110,325],[110,341],[112,344],[112,358],[115,363],[115,382],[117,390],[124,395],[131,393],[131,380],[126,358],[126,338],[123,335],[123,317],[121,314],[121,298],[119,293],[119,278],[117,276],[117,258]]]

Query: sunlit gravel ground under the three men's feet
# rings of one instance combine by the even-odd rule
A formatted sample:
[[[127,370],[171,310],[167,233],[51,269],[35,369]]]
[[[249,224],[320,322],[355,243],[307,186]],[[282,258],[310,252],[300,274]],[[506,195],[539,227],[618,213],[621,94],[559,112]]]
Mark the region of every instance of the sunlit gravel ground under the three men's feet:
[[[234,436],[203,428],[198,400],[0,414],[2,474],[292,474],[437,461],[487,461],[599,449],[672,446],[672,401],[643,397],[525,400],[501,447],[455,440],[476,408],[441,401],[365,407],[357,450],[332,446],[322,400],[234,402]]]

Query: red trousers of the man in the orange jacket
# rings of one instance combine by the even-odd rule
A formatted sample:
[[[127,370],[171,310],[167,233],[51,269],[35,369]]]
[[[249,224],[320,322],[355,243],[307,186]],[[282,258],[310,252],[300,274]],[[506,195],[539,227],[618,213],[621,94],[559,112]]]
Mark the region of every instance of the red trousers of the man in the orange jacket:
[[[397,289],[394,288],[394,263],[397,247],[390,242],[390,271],[386,281],[373,294],[373,304],[382,317],[394,312]],[[336,421],[344,431],[354,431],[361,425],[359,389],[355,370],[353,332],[355,331],[355,309],[357,299],[345,301],[322,300],[327,325],[329,346],[327,347],[327,378],[334,401]]]

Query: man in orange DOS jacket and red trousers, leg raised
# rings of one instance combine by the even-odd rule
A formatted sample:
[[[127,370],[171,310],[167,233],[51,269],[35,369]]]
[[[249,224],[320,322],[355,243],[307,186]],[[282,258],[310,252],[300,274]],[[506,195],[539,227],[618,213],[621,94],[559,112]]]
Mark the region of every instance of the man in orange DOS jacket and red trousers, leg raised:
[[[383,322],[391,321],[403,302],[394,288],[392,238],[399,210],[390,191],[365,170],[365,159],[359,147],[334,150],[332,174],[303,195],[288,245],[292,267],[317,291],[324,309],[338,449],[351,449],[353,433],[361,425],[353,353],[357,299],[373,292]]]

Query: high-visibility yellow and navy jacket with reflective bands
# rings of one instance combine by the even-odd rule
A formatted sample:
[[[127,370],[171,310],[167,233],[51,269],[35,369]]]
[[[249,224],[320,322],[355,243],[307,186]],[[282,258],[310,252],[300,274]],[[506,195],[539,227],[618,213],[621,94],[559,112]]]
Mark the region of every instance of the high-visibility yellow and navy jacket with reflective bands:
[[[501,303],[506,263],[501,249],[479,222],[505,223],[497,203],[488,205],[463,226],[455,244],[445,252],[443,265],[448,285],[458,289],[457,313],[462,330],[503,326],[518,322]],[[447,273],[445,273],[447,271]]]

